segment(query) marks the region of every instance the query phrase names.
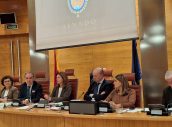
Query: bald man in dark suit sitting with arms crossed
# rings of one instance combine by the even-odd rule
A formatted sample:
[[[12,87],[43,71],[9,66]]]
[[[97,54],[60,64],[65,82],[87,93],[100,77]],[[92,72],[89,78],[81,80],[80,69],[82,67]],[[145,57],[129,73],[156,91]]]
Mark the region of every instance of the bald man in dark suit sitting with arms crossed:
[[[109,93],[113,90],[113,84],[104,79],[103,69],[98,67],[93,70],[93,80],[90,83],[84,100],[100,101],[104,100]]]

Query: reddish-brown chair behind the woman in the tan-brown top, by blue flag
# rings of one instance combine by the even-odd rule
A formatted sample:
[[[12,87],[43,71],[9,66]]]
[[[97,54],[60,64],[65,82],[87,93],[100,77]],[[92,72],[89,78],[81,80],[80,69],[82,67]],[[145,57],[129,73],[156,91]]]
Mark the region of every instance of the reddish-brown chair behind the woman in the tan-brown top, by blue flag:
[[[141,107],[141,86],[137,85],[135,82],[135,73],[124,73],[125,78],[127,78],[130,88],[136,91],[136,107]],[[134,83],[132,85],[132,83]]]

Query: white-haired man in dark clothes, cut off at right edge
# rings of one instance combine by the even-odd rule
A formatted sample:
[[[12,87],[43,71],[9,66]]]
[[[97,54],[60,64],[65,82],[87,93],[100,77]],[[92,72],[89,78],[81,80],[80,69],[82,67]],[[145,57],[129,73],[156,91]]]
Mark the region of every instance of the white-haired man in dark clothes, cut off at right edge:
[[[166,107],[170,104],[172,106],[172,71],[165,73],[165,80],[168,86],[163,91],[162,104]]]

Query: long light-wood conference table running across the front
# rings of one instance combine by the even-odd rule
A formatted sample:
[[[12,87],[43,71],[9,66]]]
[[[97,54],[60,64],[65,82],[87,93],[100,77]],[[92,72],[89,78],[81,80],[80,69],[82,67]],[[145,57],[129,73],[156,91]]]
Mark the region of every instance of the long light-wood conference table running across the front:
[[[172,116],[145,113],[69,114],[67,111],[0,110],[0,127],[172,127]]]

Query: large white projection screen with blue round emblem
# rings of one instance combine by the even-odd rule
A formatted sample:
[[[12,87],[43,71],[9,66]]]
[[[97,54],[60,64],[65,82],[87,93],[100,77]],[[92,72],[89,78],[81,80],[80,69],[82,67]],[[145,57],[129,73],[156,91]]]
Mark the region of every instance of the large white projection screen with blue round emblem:
[[[138,38],[135,0],[35,0],[36,50]]]

